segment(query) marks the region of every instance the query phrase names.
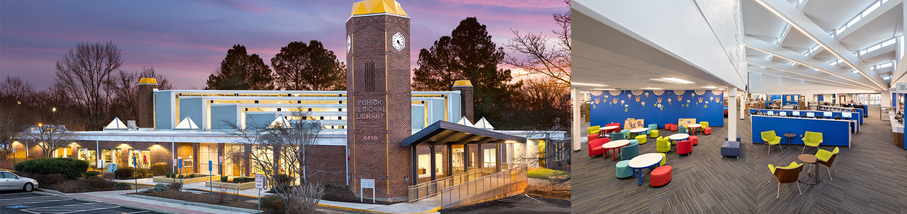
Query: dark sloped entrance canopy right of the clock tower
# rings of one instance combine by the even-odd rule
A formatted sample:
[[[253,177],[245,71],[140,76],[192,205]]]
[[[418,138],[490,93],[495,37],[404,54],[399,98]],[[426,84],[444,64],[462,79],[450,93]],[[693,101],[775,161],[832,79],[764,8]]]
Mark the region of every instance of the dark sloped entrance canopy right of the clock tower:
[[[462,145],[482,143],[525,143],[526,138],[498,131],[483,130],[453,122],[438,121],[403,140],[403,146]]]

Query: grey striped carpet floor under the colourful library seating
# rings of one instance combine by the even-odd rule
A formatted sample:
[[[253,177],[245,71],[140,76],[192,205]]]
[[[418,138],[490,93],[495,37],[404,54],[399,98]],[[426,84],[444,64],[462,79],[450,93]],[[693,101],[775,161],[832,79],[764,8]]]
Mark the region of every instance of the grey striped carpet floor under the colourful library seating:
[[[617,161],[591,157],[586,142],[582,151],[572,157],[573,213],[907,213],[907,151],[892,143],[888,121],[879,120],[879,109],[870,108],[853,139],[851,148],[841,148],[832,179],[824,166],[817,166],[821,180],[817,185],[781,184],[780,198],[775,199],[778,184],[767,164],[787,165],[797,161],[802,146],[782,151],[773,146],[767,154],[765,145],[753,144],[750,123],[737,121],[741,134],[739,159],[723,158],[721,142],[727,136],[725,127],[713,127],[711,135],[697,134],[699,144],[691,155],[668,152],[667,165],[673,168],[673,179],[662,187],[649,186],[649,170],[644,170],[643,185],[638,179],[617,179]],[[725,119],[727,120],[727,119]],[[727,121],[726,121],[727,123]],[[586,127],[589,123],[587,122]],[[585,129],[583,129],[585,130]],[[660,129],[668,136],[677,131]],[[584,131],[585,132],[585,131]],[[761,141],[761,140],[759,140]],[[639,147],[639,153],[656,152],[650,139]],[[786,147],[785,147],[786,148]],[[834,150],[834,147],[822,147]],[[814,154],[815,148],[805,153]],[[805,164],[805,170],[810,169]],[[834,171],[837,170],[837,171]],[[812,180],[803,172],[802,179]]]

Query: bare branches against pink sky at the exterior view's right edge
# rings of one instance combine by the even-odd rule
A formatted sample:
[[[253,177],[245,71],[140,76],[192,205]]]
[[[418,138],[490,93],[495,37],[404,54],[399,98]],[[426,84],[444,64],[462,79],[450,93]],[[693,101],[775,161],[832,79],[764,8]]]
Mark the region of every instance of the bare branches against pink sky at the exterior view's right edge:
[[[571,0],[564,0],[571,5]],[[560,28],[551,30],[556,34],[557,42],[549,47],[551,37],[545,34],[520,34],[520,31],[511,29],[512,39],[507,40],[507,46],[513,53],[508,54],[504,63],[513,65],[523,70],[521,76],[541,74],[549,76],[557,82],[555,86],[569,88],[571,86],[571,13],[555,13],[551,15]],[[524,55],[518,59],[513,54]]]

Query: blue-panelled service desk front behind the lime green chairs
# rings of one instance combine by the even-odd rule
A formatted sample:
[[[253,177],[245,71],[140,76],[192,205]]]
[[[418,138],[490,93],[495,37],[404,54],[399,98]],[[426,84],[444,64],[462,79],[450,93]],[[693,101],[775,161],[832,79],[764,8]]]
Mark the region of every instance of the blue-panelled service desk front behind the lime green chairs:
[[[819,146],[850,147],[853,137],[851,122],[845,120],[750,115],[750,122],[754,144],[765,143],[762,141],[762,131],[775,131],[775,135],[782,138],[783,145],[787,144],[784,134],[788,131],[797,135],[791,138],[791,145],[803,145],[801,139],[806,131],[822,132],[823,141]]]

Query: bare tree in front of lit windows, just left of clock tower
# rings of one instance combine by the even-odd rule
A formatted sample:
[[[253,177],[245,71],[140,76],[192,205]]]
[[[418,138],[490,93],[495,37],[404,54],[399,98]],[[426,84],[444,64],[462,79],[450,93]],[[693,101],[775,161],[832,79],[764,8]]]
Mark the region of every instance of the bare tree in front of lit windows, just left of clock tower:
[[[308,177],[336,172],[318,170],[307,165],[307,151],[317,144],[322,130],[321,123],[306,120],[309,112],[289,114],[278,116],[278,119],[282,117],[288,120],[265,122],[262,125],[250,122],[253,124],[247,124],[245,129],[237,122],[222,123],[229,127],[230,135],[239,137],[239,140],[229,144],[229,155],[248,157],[249,167],[265,175],[271,190],[284,201],[287,208],[301,208],[307,206],[309,200],[297,199],[294,185],[308,185]]]

